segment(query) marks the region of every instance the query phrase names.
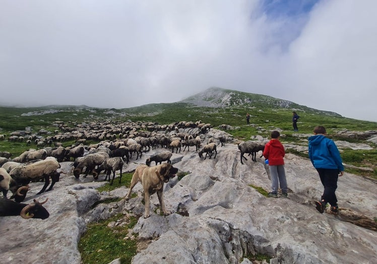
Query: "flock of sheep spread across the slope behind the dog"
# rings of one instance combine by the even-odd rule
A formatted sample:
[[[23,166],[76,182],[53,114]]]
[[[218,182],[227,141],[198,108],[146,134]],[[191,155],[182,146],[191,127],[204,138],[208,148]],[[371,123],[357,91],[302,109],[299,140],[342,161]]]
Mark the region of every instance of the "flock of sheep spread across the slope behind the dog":
[[[217,155],[216,146],[225,145],[227,139],[220,136],[216,140],[210,138],[206,145],[204,144],[205,134],[212,128],[211,124],[198,122],[176,122],[169,125],[159,125],[156,123],[145,122],[124,122],[113,124],[111,122],[76,124],[65,124],[56,121],[57,127],[54,133],[46,130],[40,130],[39,133],[30,134],[25,131],[15,131],[8,138],[9,141],[24,141],[27,139],[27,146],[34,144],[35,149],[29,149],[20,156],[11,159],[9,152],[0,151],[0,190],[4,198],[0,198],[0,216],[21,215],[25,217],[33,215],[33,218],[45,219],[46,214],[38,215],[35,212],[43,208],[42,204],[34,201],[33,206],[22,204],[27,191],[28,184],[31,181],[44,180],[42,189],[37,193],[52,189],[55,182],[59,181],[60,162],[73,161],[73,174],[79,178],[81,174],[87,177],[92,173],[94,179],[103,171],[106,174],[105,180],[113,183],[115,172],[120,171],[119,183],[121,182],[122,167],[128,163],[133,155],[136,160],[142,157],[143,152],[147,153],[156,148],[168,149],[161,151],[156,155],[150,156],[146,160],[146,165],[153,161],[162,163],[166,161],[171,163],[172,153],[180,153],[190,150],[190,147],[196,148],[198,155],[204,159],[207,156],[215,159]],[[0,140],[6,140],[5,135],[1,135]],[[75,141],[75,144],[69,147],[63,147],[64,142]],[[87,141],[99,142],[87,145]],[[242,142],[238,145],[242,159],[247,160],[243,155],[245,153],[252,156],[255,161],[256,153],[263,151],[263,142]],[[112,180],[110,176],[112,174]],[[50,184],[51,179],[51,185]],[[11,190],[12,196],[8,199],[8,190]],[[14,199],[11,200],[11,199]],[[6,201],[7,200],[7,201]],[[17,204],[17,205],[16,205]],[[20,206],[21,205],[21,206]],[[10,210],[12,208],[12,210]],[[25,214],[24,208],[28,212]],[[17,209],[17,210],[14,210]],[[23,211],[24,210],[24,211]],[[43,211],[43,210],[42,210]],[[23,212],[21,214],[21,212]],[[48,213],[48,212],[47,212]],[[48,216],[47,216],[48,217]]]

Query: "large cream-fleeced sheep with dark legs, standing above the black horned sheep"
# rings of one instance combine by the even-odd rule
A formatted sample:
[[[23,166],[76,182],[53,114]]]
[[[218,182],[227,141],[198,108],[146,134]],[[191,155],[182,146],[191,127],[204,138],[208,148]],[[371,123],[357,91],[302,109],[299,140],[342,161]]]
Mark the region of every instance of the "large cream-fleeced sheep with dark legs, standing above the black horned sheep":
[[[30,164],[21,164],[9,172],[9,175],[11,175],[16,183],[14,187],[10,187],[10,189],[15,193],[18,187],[29,184],[31,180],[44,178],[44,185],[37,193],[41,194],[50,184],[51,177],[52,183],[47,189],[47,191],[50,191],[55,182],[59,181],[60,173],[56,171],[58,168],[60,168],[60,164],[53,157],[47,157],[45,160],[36,161]]]

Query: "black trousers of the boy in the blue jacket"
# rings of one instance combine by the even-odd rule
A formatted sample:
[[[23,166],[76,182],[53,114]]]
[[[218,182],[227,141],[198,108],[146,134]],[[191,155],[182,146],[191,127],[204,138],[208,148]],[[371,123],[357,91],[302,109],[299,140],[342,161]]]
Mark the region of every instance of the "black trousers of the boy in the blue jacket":
[[[317,169],[322,185],[324,185],[324,193],[321,199],[331,206],[336,206],[338,200],[335,195],[335,190],[338,188],[338,169]]]

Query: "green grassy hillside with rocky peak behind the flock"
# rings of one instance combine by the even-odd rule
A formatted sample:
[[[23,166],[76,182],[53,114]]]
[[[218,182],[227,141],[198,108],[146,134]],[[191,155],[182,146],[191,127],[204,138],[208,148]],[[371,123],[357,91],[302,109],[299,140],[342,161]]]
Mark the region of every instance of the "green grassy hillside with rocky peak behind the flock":
[[[0,134],[10,135],[13,131],[31,129],[37,133],[40,129],[54,131],[55,121],[64,121],[75,127],[83,122],[143,121],[159,124],[170,124],[178,121],[198,121],[211,123],[218,128],[227,124],[234,129],[227,130],[239,140],[248,140],[250,136],[269,137],[272,129],[282,130],[282,140],[286,142],[300,141],[292,129],[292,111],[300,115],[298,122],[300,134],[312,134],[316,125],[324,125],[330,138],[337,139],[334,134],[340,130],[366,131],[376,130],[377,122],[369,122],[342,117],[337,113],[322,111],[298,105],[293,102],[270,96],[237,92],[220,88],[210,88],[205,92],[193,95],[181,102],[154,103],[124,109],[104,109],[82,106],[44,106],[31,108],[0,107]],[[250,124],[246,125],[246,113],[250,113]],[[347,139],[357,143],[365,143],[361,139]],[[65,143],[67,146],[72,142]],[[373,145],[372,143],[368,143]],[[372,151],[347,150],[342,157],[347,162],[358,166],[372,166],[372,173],[377,175],[377,153]],[[29,147],[26,143],[0,142],[0,151],[9,151],[13,157],[18,156]],[[298,153],[301,156],[306,154]],[[371,165],[370,165],[371,164]]]

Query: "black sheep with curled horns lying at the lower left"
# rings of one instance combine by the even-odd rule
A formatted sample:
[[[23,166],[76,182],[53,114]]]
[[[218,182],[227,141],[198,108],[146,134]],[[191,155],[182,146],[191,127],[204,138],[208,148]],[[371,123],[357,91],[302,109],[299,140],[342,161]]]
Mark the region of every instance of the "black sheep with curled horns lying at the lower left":
[[[50,216],[48,211],[42,206],[47,202],[39,203],[34,199],[34,203],[22,204],[9,199],[0,199],[0,216],[21,216],[22,218],[46,219]]]

